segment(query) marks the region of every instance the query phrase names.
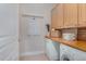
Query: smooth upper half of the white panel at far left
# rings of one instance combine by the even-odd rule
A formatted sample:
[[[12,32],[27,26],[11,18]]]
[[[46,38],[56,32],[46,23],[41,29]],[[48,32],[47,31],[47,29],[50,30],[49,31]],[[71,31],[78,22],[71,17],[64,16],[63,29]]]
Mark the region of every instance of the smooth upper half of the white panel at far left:
[[[0,4],[0,36],[17,35],[17,4]]]

